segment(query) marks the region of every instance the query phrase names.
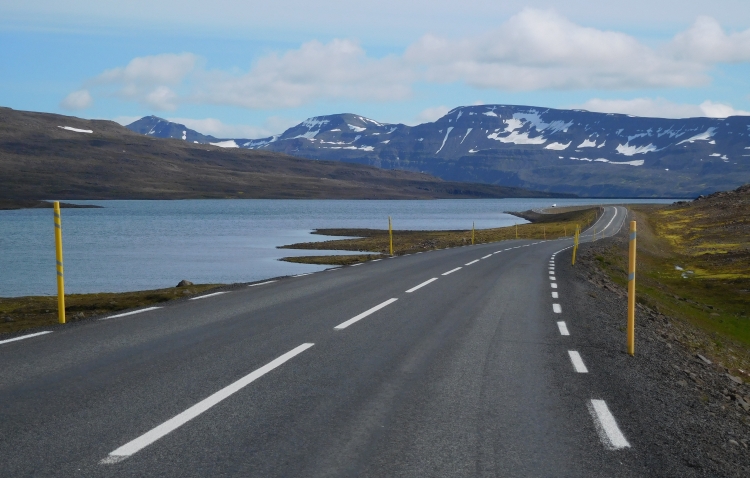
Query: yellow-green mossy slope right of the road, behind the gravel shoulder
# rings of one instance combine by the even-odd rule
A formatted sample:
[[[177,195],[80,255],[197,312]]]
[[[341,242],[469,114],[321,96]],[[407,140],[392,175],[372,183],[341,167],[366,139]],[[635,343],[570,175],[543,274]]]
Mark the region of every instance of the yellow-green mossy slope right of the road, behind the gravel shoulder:
[[[700,331],[687,345],[708,347],[725,363],[748,363],[750,188],[720,194],[630,208],[638,221],[638,301]],[[624,244],[601,250],[596,261],[613,282],[626,286]]]

